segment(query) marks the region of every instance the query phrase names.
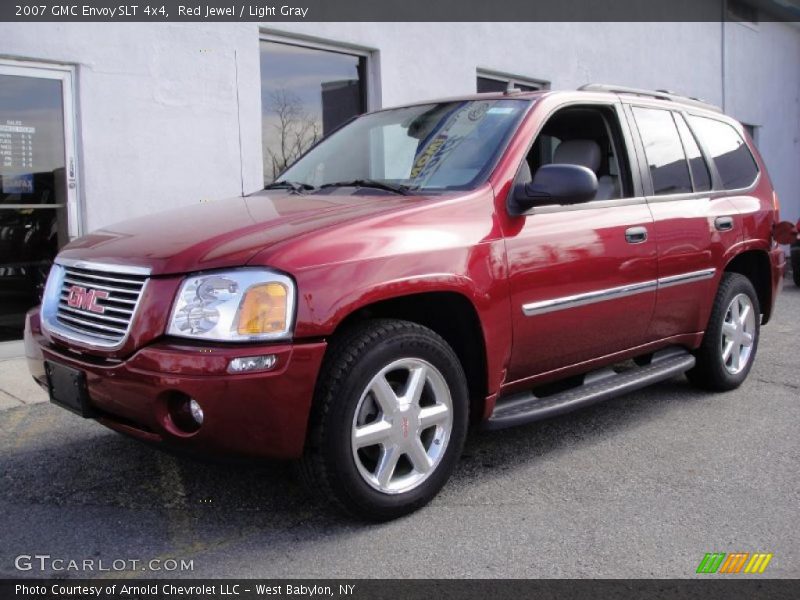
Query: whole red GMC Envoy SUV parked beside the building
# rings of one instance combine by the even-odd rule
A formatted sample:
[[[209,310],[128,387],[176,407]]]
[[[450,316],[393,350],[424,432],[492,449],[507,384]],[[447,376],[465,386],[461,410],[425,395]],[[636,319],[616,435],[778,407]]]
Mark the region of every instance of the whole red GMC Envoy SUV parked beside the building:
[[[588,85],[360,116],[264,191],[108,226],[27,317],[51,400],[196,452],[301,459],[390,519],[470,421],[528,423],[685,372],[740,385],[784,270],[742,126]]]

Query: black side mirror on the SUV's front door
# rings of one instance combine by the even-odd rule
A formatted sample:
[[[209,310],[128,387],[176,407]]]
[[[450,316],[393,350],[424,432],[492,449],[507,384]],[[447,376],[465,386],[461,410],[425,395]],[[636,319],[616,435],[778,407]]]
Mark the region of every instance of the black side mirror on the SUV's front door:
[[[522,215],[541,204],[578,204],[597,194],[597,176],[580,165],[543,165],[533,181],[518,184],[508,202],[508,212]]]

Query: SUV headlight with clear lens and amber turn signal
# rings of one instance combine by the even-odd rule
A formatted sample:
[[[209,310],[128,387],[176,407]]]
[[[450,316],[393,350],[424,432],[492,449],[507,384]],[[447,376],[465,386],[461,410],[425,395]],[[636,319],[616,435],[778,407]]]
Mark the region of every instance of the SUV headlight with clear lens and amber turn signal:
[[[294,282],[266,269],[190,275],[181,285],[167,333],[222,342],[288,338]]]

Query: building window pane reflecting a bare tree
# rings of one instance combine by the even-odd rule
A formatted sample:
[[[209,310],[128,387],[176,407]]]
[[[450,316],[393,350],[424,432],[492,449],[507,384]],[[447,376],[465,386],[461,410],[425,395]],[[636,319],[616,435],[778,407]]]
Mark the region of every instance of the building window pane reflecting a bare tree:
[[[366,58],[261,42],[264,181],[366,110]]]

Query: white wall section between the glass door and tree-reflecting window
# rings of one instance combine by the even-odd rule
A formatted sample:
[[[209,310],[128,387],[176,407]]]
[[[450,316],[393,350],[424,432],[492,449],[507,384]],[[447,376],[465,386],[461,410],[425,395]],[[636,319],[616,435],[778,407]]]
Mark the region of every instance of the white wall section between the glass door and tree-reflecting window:
[[[253,24],[3,23],[0,55],[77,65],[85,231],[262,181]]]

